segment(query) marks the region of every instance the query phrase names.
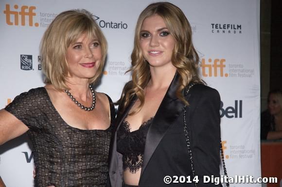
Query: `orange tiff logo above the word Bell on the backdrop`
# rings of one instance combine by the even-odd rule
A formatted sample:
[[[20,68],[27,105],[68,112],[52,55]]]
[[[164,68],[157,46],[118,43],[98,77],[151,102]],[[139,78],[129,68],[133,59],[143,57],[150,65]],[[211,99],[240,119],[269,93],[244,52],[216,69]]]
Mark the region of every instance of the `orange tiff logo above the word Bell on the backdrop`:
[[[212,59],[208,59],[208,62],[206,62],[206,59],[202,59],[203,77],[228,77],[228,73],[224,74],[225,62],[225,59],[214,59],[213,61]]]

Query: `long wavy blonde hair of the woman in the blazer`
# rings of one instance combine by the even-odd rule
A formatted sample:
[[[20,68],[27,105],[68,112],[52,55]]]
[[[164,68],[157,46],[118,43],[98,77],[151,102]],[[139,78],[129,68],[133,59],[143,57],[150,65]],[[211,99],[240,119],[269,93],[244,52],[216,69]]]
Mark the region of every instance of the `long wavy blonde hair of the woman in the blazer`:
[[[157,2],[149,4],[140,14],[134,38],[134,48],[131,53],[132,67],[128,71],[132,72],[132,80],[124,89],[121,99],[118,101],[125,108],[130,99],[136,94],[140,100],[140,106],[130,114],[134,114],[144,105],[144,88],[151,78],[148,62],[144,61],[141,52],[141,26],[149,16],[159,15],[163,18],[166,27],[174,37],[176,46],[172,54],[172,64],[176,67],[180,75],[176,96],[185,104],[188,102],[182,95],[182,90],[191,81],[204,83],[198,75],[199,57],[192,43],[192,29],[184,13],[174,4],[169,2]]]

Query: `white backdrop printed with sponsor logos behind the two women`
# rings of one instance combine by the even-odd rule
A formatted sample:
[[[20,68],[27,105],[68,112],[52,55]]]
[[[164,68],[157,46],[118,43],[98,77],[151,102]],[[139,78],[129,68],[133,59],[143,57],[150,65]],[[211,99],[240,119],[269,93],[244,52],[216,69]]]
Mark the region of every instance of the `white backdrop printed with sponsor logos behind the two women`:
[[[95,15],[108,41],[97,91],[116,101],[130,79],[134,29],[151,0],[1,0],[0,108],[43,86],[38,49],[60,12],[84,8]],[[221,129],[229,176],[261,175],[259,0],[173,0],[190,20],[199,69],[221,94]],[[23,61],[25,59],[25,61]],[[33,154],[26,135],[0,146],[0,176],[7,187],[33,186]],[[261,186],[233,184],[232,187]]]

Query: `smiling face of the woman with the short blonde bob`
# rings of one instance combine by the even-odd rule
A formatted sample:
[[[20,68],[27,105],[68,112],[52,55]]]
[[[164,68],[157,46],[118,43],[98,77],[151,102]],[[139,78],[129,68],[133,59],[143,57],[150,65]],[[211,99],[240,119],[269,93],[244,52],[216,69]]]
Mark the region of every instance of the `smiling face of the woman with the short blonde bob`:
[[[66,51],[70,78],[93,78],[102,60],[102,49],[97,39],[81,35]]]

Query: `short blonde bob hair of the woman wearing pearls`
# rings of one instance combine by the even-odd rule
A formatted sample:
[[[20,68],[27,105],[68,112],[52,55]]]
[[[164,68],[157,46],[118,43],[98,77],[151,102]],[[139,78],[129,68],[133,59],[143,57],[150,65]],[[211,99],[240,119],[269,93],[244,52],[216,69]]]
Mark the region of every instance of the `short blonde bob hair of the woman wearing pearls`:
[[[53,19],[41,40],[40,56],[46,84],[52,84],[57,90],[69,89],[66,84],[69,73],[66,51],[82,34],[96,38],[102,49],[102,61],[89,83],[101,76],[106,60],[106,38],[91,13],[84,9],[69,10]]]

